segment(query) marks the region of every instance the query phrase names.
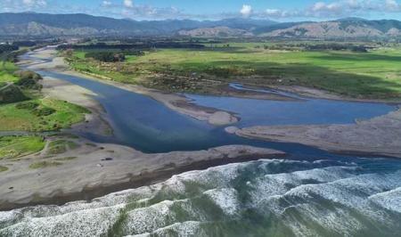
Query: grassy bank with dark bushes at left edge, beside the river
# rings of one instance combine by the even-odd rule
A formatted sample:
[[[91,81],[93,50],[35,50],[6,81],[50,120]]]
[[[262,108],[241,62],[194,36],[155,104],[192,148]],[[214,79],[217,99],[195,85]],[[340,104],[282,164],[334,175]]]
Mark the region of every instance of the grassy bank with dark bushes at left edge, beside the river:
[[[69,102],[44,98],[40,92],[42,78],[35,72],[17,71],[13,62],[0,61],[0,84],[10,87],[0,94],[0,131],[57,131],[85,119],[88,110]]]

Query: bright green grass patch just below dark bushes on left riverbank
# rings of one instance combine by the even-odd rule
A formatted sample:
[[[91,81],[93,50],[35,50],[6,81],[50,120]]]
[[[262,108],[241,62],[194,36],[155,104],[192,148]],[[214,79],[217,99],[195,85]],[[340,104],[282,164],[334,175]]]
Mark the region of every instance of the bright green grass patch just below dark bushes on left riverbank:
[[[0,105],[0,131],[57,131],[81,122],[88,110],[78,105],[50,98],[32,100],[39,109],[50,108],[50,115],[38,114],[34,110],[18,109],[18,103]]]

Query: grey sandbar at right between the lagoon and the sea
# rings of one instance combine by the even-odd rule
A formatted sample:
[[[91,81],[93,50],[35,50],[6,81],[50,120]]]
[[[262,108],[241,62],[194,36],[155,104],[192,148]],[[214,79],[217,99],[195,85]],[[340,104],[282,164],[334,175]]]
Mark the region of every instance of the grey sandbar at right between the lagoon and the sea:
[[[401,158],[401,110],[350,125],[247,127],[233,132],[267,141],[302,143],[326,151]]]

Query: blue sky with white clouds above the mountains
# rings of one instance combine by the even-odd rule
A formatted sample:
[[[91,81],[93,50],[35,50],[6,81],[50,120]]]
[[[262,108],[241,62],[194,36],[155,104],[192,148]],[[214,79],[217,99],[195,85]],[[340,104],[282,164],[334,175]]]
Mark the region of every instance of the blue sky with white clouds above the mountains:
[[[0,0],[0,12],[87,13],[134,20],[401,20],[401,0]]]

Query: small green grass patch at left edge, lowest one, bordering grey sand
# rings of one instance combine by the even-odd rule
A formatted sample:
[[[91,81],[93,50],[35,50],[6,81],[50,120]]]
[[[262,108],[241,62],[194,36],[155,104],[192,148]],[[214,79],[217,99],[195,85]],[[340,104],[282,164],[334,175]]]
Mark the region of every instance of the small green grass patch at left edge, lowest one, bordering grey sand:
[[[42,136],[0,137],[0,159],[14,159],[42,151],[45,141]]]

